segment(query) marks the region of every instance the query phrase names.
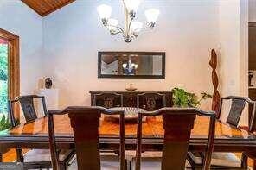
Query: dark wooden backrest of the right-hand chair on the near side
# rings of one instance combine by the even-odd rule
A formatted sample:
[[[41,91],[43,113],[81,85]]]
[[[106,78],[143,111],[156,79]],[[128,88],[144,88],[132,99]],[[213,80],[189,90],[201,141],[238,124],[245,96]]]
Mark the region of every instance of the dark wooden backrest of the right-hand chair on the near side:
[[[191,129],[194,127],[196,115],[210,116],[208,145],[205,151],[204,169],[208,169],[214,144],[215,113],[204,112],[194,108],[162,108],[156,111],[138,113],[138,136],[136,151],[136,170],[140,170],[142,150],[142,118],[143,116],[163,116],[163,156],[162,170],[183,170],[189,148]]]

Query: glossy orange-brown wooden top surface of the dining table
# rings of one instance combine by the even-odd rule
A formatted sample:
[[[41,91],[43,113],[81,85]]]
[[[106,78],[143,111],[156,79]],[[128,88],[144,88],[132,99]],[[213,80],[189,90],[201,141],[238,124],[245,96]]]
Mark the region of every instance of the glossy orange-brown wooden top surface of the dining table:
[[[197,116],[194,129],[191,132],[191,139],[208,138],[208,117]],[[73,137],[73,129],[70,126],[70,120],[67,115],[54,116],[54,130],[56,137]],[[85,131],[86,132],[86,131]],[[118,137],[118,122],[113,122],[101,117],[99,126],[99,137]],[[163,138],[163,119],[161,116],[149,118],[143,123],[143,135],[154,138]],[[125,136],[134,136],[137,134],[136,123],[125,123]],[[27,123],[17,126],[14,129],[0,133],[0,141],[5,137],[40,137],[48,136],[48,117],[37,119],[33,123]],[[236,129],[226,123],[216,122],[215,139],[221,140],[251,140],[255,142],[256,136],[243,129]]]

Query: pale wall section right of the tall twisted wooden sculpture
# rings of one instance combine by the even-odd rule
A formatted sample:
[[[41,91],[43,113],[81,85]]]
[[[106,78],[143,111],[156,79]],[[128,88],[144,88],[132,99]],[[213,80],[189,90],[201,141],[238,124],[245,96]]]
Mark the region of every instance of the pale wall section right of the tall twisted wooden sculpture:
[[[221,96],[247,96],[248,74],[248,2],[220,1],[219,77]],[[222,119],[227,118],[223,111]],[[226,114],[225,114],[226,113]],[[244,111],[240,124],[247,124]]]

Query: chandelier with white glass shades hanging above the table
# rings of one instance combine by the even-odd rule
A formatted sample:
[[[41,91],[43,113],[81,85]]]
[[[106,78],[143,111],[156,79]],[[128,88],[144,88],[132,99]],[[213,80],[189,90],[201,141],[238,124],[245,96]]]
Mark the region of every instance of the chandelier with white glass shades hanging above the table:
[[[133,38],[138,37],[141,29],[154,28],[159,16],[158,9],[147,9],[144,14],[147,18],[147,24],[144,27],[142,22],[135,21],[136,12],[140,0],[123,0],[125,7],[125,28],[118,26],[118,20],[110,18],[112,7],[106,4],[101,4],[97,7],[99,17],[103,25],[110,31],[111,35],[122,34],[125,42],[131,42]]]

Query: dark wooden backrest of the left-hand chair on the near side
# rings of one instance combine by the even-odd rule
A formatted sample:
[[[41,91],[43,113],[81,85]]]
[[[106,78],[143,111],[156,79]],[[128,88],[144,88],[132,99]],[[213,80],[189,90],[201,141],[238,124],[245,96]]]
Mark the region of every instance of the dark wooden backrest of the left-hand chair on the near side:
[[[101,114],[119,115],[120,169],[125,170],[125,118],[124,110],[107,110],[103,107],[67,107],[65,110],[48,111],[48,133],[54,170],[58,168],[58,154],[54,135],[54,115],[68,114],[74,131],[78,169],[100,169],[99,118]]]

